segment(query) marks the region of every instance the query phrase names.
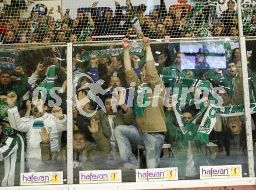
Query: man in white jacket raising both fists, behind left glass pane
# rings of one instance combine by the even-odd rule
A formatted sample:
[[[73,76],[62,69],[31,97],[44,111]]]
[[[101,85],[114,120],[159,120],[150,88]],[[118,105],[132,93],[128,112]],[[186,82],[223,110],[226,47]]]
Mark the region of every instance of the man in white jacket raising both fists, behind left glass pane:
[[[63,115],[62,109],[55,107],[52,114],[48,114],[47,105],[41,99],[37,100],[36,105],[32,104],[33,116],[20,118],[15,102],[17,95],[9,93],[7,95],[7,103],[9,106],[8,117],[10,125],[13,129],[26,133],[27,141],[27,166],[30,172],[38,171],[56,171],[58,166],[49,166],[41,161],[40,152],[40,131],[45,127],[51,134],[51,150],[61,150],[61,134],[67,129],[66,115]]]

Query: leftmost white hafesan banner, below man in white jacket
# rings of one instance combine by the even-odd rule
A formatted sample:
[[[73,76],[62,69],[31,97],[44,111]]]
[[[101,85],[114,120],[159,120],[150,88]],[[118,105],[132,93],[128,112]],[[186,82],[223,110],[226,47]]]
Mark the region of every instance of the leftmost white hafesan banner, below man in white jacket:
[[[60,185],[63,184],[63,172],[31,172],[20,174],[20,185]]]

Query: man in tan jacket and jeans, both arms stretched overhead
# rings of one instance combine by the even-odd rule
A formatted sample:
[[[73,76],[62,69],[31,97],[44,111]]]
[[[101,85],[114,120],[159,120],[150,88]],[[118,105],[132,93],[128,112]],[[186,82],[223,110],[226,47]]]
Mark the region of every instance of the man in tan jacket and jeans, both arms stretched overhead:
[[[146,49],[146,63],[141,69],[141,81],[139,81],[136,72],[131,68],[128,39],[123,39],[126,81],[130,86],[136,87],[134,112],[138,125],[138,128],[118,126],[114,131],[120,157],[125,162],[124,169],[138,168],[137,160],[131,152],[130,142],[133,144],[142,142],[145,145],[147,168],[158,167],[166,132],[166,119],[163,111],[165,86],[155,68],[150,39],[144,38],[143,43]],[[157,105],[152,105],[155,96],[157,96]]]

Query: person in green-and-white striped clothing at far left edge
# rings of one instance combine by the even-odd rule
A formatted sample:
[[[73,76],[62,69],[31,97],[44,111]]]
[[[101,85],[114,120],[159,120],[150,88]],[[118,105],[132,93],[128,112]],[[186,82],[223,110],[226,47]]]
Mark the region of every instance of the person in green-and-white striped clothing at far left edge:
[[[2,186],[19,185],[20,173],[24,172],[24,139],[22,133],[10,126],[8,117],[0,120],[0,168],[4,174],[0,176]]]

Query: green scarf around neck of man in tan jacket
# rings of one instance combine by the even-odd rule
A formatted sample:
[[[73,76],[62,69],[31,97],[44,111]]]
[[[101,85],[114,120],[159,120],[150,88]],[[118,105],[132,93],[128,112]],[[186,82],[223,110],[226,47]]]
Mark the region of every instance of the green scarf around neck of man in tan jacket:
[[[148,105],[144,105],[145,102],[148,100],[148,94],[146,90],[150,87],[150,85],[140,85],[136,92],[134,92],[134,112],[136,116],[144,116],[145,108]]]

